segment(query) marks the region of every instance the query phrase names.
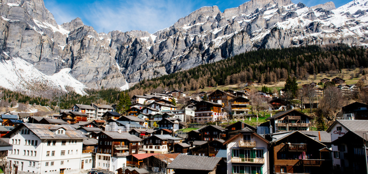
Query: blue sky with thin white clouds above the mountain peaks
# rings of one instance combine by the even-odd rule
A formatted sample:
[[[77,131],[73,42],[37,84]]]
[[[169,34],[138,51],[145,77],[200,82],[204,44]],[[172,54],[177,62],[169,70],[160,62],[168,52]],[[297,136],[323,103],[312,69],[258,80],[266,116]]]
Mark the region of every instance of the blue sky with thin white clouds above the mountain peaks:
[[[144,30],[154,33],[173,25],[179,18],[204,6],[221,11],[249,0],[45,0],[46,8],[60,25],[77,17],[97,32]],[[331,0],[292,0],[308,7]],[[351,0],[333,1],[337,7]]]

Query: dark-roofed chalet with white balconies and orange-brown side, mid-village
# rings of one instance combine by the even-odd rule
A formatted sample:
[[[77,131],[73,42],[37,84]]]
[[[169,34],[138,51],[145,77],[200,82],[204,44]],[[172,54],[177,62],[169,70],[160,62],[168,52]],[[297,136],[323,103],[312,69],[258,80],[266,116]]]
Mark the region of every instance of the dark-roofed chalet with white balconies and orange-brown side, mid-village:
[[[195,122],[213,122],[226,118],[222,104],[202,100],[194,106],[196,107],[194,114]]]

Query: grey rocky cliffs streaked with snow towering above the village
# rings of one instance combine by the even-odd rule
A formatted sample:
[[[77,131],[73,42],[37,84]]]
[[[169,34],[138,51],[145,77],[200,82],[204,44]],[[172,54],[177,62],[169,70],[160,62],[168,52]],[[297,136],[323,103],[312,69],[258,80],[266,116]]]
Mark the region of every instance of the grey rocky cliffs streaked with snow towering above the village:
[[[67,70],[85,88],[125,89],[127,82],[256,49],[365,45],[368,35],[367,0],[337,9],[332,2],[309,8],[290,0],[251,0],[224,12],[216,6],[202,7],[153,34],[97,33],[79,18],[58,25],[42,0],[0,3],[0,63],[21,58],[46,76]],[[7,83],[1,86],[9,86],[11,81],[6,77],[0,80]],[[19,78],[22,80],[29,79]]]

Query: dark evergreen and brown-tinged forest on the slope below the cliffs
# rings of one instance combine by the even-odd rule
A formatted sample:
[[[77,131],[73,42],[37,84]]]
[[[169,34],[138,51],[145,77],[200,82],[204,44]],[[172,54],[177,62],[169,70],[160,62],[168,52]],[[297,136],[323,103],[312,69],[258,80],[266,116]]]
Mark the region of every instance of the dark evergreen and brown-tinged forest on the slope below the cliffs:
[[[368,66],[368,51],[363,47],[344,44],[310,45],[284,49],[261,49],[195,67],[190,70],[143,80],[130,88],[139,94],[156,88],[196,90],[207,86],[229,85],[255,81],[272,84],[295,75],[305,79],[309,75],[329,73],[341,69]]]

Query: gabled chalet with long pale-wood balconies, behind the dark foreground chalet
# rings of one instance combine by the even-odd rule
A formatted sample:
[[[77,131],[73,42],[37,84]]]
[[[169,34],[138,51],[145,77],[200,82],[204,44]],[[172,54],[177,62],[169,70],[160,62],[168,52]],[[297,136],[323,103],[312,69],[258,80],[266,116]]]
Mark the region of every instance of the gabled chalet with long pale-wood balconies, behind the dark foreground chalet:
[[[311,116],[305,115],[297,110],[279,112],[266,120],[270,121],[272,133],[293,130],[309,130]]]

